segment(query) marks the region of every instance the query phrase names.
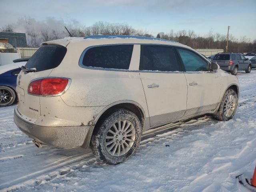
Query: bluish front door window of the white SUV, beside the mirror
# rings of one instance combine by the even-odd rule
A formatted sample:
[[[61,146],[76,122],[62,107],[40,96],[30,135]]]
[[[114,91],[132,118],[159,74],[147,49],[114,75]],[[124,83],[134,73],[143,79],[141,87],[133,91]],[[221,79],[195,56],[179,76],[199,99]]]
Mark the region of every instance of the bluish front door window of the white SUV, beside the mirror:
[[[177,49],[186,71],[208,71],[208,62],[186,49]]]

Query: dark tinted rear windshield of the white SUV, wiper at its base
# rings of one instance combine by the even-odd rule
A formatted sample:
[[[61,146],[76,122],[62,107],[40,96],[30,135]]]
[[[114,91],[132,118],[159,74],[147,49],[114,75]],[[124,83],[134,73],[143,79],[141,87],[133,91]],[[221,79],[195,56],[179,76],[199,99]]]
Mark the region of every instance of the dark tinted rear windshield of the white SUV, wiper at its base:
[[[66,55],[67,48],[60,45],[44,45],[28,60],[26,68],[36,68],[36,72],[57,67]]]

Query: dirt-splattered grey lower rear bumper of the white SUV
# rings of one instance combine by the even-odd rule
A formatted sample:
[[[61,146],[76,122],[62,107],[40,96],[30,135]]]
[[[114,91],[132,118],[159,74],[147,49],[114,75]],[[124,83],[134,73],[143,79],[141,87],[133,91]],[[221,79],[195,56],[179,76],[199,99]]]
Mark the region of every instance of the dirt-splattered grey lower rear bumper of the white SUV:
[[[47,127],[39,126],[22,119],[22,114],[17,107],[14,110],[14,122],[18,128],[30,138],[52,147],[60,148],[87,148],[93,126],[62,126]]]

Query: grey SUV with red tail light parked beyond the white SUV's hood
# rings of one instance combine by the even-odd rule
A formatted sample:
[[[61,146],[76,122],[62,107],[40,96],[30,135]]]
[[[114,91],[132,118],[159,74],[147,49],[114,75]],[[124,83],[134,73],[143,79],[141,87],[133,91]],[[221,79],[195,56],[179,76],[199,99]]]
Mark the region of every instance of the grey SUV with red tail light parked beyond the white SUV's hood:
[[[216,62],[222,70],[231,72],[232,75],[237,75],[238,70],[245,70],[246,73],[250,73],[252,69],[252,64],[248,58],[239,53],[218,53],[212,62]]]

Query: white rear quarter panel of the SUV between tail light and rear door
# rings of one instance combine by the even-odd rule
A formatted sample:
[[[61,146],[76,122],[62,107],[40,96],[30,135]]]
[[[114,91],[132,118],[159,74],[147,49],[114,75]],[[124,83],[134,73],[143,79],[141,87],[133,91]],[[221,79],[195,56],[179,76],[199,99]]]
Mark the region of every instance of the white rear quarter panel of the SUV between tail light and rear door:
[[[71,78],[69,89],[61,96],[68,106],[93,107],[109,106],[114,102],[130,100],[148,110],[139,72],[110,71],[82,68],[79,58],[88,46],[95,42],[70,43],[62,63],[54,68],[50,76]],[[139,56],[139,54],[137,54]],[[133,59],[130,66],[139,66],[139,59]]]

